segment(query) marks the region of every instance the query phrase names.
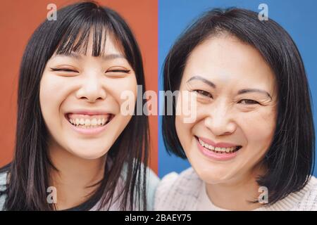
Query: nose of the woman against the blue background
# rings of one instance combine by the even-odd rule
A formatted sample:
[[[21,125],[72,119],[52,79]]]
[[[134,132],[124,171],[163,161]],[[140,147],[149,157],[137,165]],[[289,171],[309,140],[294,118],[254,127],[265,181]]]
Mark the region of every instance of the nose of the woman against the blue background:
[[[232,134],[237,129],[234,115],[225,103],[210,105],[204,124],[215,136]]]

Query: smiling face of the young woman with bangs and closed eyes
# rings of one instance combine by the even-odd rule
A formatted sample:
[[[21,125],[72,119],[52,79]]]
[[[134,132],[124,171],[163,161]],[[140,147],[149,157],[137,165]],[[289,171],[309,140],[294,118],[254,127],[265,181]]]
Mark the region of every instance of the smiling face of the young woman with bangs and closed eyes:
[[[51,141],[80,158],[105,155],[132,117],[120,113],[125,101],[120,94],[132,91],[136,96],[135,72],[110,37],[105,48],[104,56],[92,56],[90,40],[85,56],[54,54],[40,84]]]

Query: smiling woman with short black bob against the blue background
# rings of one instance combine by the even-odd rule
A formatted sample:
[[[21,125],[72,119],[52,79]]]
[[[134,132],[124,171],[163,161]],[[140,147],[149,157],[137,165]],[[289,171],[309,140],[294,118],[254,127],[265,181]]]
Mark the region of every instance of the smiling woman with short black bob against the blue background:
[[[162,179],[155,210],[317,210],[309,84],[280,25],[209,11],[170,49],[163,76],[165,91],[180,91],[163,117],[166,148],[192,168]],[[186,91],[192,122],[178,110]]]

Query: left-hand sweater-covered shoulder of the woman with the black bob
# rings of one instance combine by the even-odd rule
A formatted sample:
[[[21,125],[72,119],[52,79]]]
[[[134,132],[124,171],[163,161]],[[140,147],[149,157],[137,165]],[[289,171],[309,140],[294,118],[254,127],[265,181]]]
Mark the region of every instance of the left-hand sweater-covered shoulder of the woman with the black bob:
[[[195,210],[202,184],[192,167],[167,174],[156,188],[154,210]]]

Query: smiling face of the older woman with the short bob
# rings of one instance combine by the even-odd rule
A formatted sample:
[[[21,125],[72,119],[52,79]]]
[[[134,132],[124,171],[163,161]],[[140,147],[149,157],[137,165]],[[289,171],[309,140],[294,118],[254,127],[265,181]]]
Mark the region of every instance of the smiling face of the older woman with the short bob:
[[[275,77],[261,54],[235,37],[207,39],[190,54],[180,91],[197,94],[196,120],[176,115],[175,126],[201,179],[228,183],[253,174],[277,116]]]

